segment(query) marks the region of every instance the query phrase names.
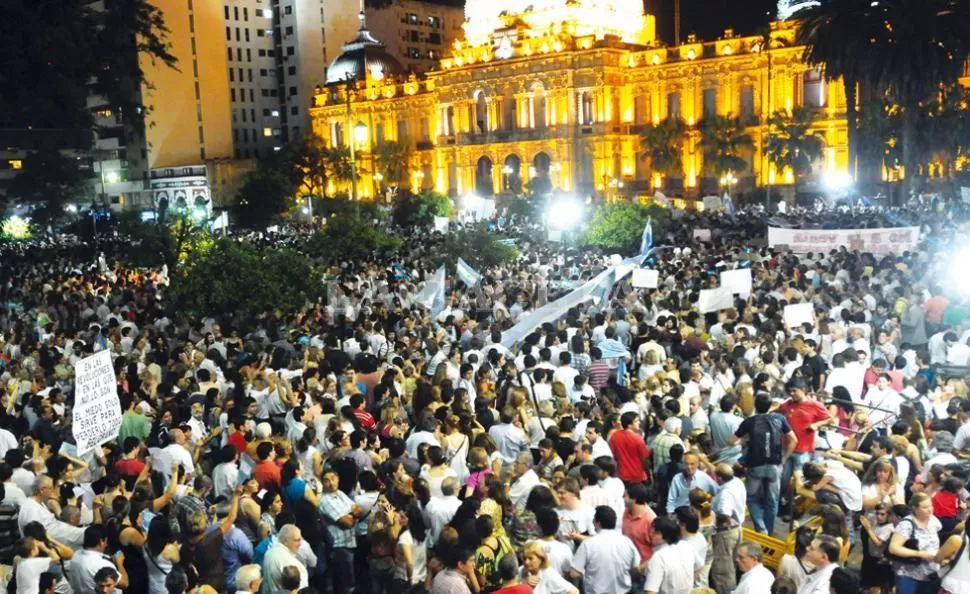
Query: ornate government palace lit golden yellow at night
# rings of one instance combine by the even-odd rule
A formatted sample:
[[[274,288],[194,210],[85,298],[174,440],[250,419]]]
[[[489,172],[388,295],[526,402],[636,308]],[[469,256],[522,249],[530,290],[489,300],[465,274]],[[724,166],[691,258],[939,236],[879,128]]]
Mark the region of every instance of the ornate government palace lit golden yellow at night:
[[[767,115],[797,106],[816,109],[826,141],[811,177],[847,169],[841,83],[801,61],[794,23],[772,25],[769,50],[730,30],[663,46],[642,0],[468,0],[465,17],[464,38],[421,77],[405,75],[363,19],[328,67],[311,125],[330,146],[354,142],[361,198],[382,192],[373,153],[392,141],[409,147],[402,185],[412,190],[484,196],[538,177],[581,195],[716,193],[697,128],[714,115],[740,118],[754,143],[737,190],[790,185],[792,172],[775,171],[762,147]],[[640,133],[668,117],[690,131],[683,172],[662,177],[641,158]]]

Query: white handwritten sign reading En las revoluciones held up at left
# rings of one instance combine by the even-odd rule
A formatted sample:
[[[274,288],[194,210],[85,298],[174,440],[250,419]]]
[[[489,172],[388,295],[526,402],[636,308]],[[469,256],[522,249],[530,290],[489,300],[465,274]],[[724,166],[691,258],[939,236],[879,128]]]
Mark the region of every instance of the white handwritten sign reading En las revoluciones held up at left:
[[[118,437],[121,401],[111,351],[85,357],[74,366],[74,416],[71,429],[81,456]]]

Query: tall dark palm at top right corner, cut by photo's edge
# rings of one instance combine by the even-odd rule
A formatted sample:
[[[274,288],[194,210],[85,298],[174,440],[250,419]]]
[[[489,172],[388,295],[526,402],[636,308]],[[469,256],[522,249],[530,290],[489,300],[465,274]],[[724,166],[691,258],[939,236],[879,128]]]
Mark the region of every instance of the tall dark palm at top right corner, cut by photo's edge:
[[[903,167],[912,189],[923,104],[960,77],[970,58],[970,3],[884,0],[877,8],[887,33],[873,73],[902,108]]]

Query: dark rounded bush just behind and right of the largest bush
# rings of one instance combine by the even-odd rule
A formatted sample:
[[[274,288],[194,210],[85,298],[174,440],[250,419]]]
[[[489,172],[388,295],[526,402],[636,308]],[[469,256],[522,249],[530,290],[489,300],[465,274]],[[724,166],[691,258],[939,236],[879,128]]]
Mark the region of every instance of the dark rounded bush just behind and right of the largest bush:
[[[344,201],[331,200],[330,203]],[[350,260],[363,262],[375,256],[401,249],[404,244],[397,235],[389,232],[383,225],[375,225],[380,220],[376,207],[350,203],[346,213],[331,216],[313,236],[307,240],[307,253],[325,262]]]

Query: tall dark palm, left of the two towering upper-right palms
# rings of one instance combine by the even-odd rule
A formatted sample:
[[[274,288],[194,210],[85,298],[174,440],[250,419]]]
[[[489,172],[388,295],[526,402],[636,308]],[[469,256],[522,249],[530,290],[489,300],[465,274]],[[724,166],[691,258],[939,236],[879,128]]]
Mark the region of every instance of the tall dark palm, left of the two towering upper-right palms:
[[[872,0],[821,0],[798,14],[801,24],[795,43],[805,46],[805,62],[824,66],[829,78],[842,79],[852,171],[859,151],[859,86],[874,83],[871,66],[885,35],[882,22],[875,17],[878,4]]]

